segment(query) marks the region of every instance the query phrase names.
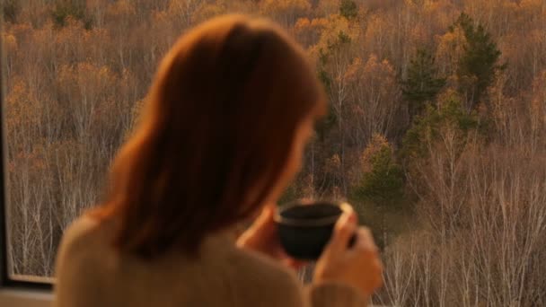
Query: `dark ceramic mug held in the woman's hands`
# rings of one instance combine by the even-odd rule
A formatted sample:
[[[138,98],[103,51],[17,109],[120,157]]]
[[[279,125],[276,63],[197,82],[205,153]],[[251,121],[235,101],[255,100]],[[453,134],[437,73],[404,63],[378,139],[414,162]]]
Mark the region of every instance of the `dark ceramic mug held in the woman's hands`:
[[[339,216],[350,209],[348,203],[335,201],[298,201],[281,206],[275,215],[281,245],[295,259],[319,259]],[[349,246],[355,239],[351,238]]]

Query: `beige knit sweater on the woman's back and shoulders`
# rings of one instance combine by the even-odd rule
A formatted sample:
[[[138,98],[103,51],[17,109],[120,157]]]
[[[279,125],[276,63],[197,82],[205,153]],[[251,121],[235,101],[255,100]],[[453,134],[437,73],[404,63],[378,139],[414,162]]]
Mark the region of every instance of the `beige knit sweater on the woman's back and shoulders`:
[[[111,233],[111,225],[89,217],[66,230],[54,307],[366,305],[347,285],[304,287],[277,262],[237,248],[227,232],[209,237],[198,260],[172,252],[152,262],[113,250]]]

